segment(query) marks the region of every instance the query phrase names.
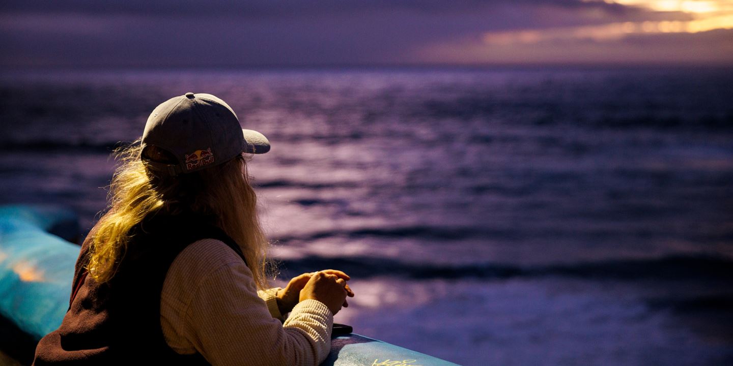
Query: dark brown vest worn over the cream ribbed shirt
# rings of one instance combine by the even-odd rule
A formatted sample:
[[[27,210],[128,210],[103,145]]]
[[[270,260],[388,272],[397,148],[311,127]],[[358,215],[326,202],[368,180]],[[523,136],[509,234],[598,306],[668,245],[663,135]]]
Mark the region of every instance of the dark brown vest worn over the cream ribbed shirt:
[[[103,284],[86,276],[92,234],[86,237],[69,310],[59,329],[38,343],[33,365],[208,365],[200,354],[180,355],[166,344],[163,281],[176,256],[196,240],[221,240],[244,260],[240,247],[211,217],[195,214],[146,218],[130,234],[117,273]]]

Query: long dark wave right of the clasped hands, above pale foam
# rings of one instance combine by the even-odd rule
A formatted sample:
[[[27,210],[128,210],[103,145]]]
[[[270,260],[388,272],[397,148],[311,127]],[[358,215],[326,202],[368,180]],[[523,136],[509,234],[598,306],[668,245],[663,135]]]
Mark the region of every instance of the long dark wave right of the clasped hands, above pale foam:
[[[660,258],[625,258],[572,264],[518,266],[515,264],[416,264],[394,258],[328,258],[309,255],[281,261],[287,275],[336,268],[353,277],[432,279],[508,279],[514,277],[579,277],[592,280],[733,280],[733,260],[720,255],[666,255]]]

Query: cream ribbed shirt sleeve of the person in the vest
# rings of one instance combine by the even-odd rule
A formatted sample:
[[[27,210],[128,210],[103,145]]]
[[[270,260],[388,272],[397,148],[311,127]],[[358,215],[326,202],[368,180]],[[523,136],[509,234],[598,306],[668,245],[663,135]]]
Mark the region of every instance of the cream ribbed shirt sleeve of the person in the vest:
[[[275,294],[257,291],[252,272],[224,242],[202,239],[171,264],[161,294],[161,327],[178,354],[212,365],[318,365],[331,350],[334,315],[306,300],[283,315]]]

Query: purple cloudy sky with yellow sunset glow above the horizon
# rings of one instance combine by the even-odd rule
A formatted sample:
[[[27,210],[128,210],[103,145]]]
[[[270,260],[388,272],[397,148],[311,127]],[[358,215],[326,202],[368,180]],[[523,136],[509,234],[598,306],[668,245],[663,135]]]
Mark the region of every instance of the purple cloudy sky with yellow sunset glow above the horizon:
[[[2,0],[1,67],[733,64],[733,0]]]

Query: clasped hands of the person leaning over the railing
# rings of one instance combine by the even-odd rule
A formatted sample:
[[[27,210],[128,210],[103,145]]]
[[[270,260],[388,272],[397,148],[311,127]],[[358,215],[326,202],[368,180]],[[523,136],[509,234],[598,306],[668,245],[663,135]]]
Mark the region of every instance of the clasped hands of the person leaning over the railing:
[[[293,277],[276,295],[280,313],[290,313],[298,302],[314,299],[323,302],[336,315],[341,307],[349,306],[346,296],[354,296],[346,283],[350,279],[349,275],[336,269],[324,269]]]

